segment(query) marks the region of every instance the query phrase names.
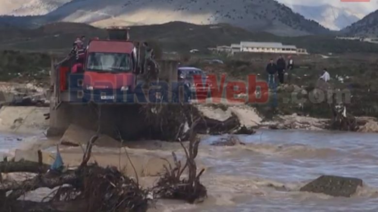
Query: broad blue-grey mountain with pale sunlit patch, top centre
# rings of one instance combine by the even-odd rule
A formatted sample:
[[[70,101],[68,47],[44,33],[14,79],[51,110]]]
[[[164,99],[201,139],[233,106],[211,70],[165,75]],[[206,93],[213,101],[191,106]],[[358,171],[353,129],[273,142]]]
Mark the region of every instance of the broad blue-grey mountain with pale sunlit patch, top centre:
[[[97,27],[171,21],[202,25],[227,23],[250,31],[282,36],[329,32],[275,0],[72,0],[51,13],[14,21],[13,24],[24,27],[26,23],[36,25],[56,21],[87,23]]]

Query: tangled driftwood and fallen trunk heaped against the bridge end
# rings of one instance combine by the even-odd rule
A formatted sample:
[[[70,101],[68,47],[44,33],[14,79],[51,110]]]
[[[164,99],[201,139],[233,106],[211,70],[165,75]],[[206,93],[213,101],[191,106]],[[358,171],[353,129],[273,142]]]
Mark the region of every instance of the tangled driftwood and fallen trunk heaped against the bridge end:
[[[238,117],[233,114],[224,121],[204,116],[191,104],[146,104],[142,107],[146,122],[150,125],[150,137],[163,141],[189,140],[189,128],[193,133],[220,135],[254,134],[252,128],[241,126]],[[198,119],[193,125],[194,120]]]

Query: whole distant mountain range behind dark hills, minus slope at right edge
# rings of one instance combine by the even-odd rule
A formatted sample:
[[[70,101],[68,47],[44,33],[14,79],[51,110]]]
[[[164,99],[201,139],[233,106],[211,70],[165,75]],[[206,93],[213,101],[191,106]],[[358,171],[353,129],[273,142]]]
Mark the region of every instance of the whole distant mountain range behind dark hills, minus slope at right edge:
[[[328,4],[289,8],[276,0],[0,0],[0,5],[0,14],[6,15],[0,17],[2,28],[37,28],[51,22],[106,27],[184,21],[301,36],[327,34],[362,18],[362,14]]]

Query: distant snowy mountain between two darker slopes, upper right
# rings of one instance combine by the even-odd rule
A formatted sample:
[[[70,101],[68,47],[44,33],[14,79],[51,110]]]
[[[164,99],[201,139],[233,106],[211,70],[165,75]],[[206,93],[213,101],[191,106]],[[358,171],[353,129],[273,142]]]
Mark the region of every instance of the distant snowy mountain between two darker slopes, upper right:
[[[345,28],[363,17],[363,14],[356,14],[346,8],[338,8],[329,4],[320,6],[292,5],[292,9],[332,30]]]

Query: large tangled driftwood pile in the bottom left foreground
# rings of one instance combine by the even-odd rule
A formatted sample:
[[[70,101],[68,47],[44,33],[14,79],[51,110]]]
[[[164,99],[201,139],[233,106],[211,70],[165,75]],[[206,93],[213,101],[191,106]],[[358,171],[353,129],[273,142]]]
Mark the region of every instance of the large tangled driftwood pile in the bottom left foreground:
[[[17,183],[1,182],[1,211],[146,211],[147,190],[142,189],[138,182],[124,176],[116,168],[102,168],[97,164],[87,165],[92,145],[97,138],[98,136],[94,136],[88,142],[83,161],[74,170],[46,172],[49,167],[42,164],[42,156],[40,156],[42,154],[39,154],[39,163],[2,162],[0,164],[2,173],[32,172],[37,175]],[[44,201],[31,203],[18,200],[28,192],[43,187],[54,189]],[[80,205],[79,202],[83,204]]]

